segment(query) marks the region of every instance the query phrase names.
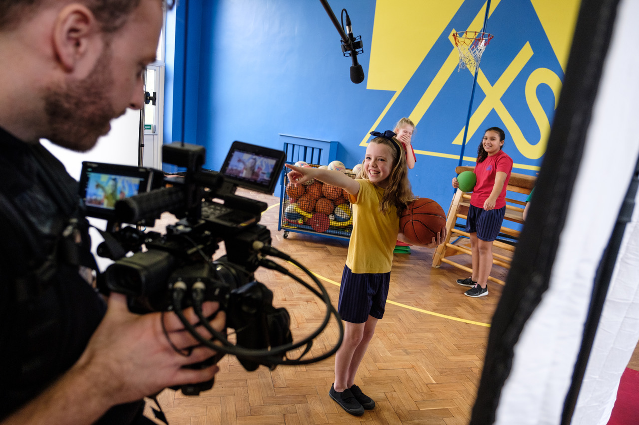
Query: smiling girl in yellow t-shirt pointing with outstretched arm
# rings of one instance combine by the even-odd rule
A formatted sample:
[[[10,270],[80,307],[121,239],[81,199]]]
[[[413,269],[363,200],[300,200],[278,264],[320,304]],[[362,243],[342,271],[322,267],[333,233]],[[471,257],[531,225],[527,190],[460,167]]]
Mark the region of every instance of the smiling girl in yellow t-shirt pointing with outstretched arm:
[[[335,354],[335,382],[328,395],[351,415],[362,415],[375,402],[355,385],[355,374],[384,315],[389,293],[390,269],[399,233],[399,214],[413,200],[407,177],[406,155],[395,133],[371,132],[376,136],[366,148],[362,178],[351,179],[340,171],[321,168],[291,168],[295,186],[310,179],[346,190],[353,207],[353,232],[342,274],[337,311],[344,320],[344,341]],[[435,248],[445,238],[425,246]]]

